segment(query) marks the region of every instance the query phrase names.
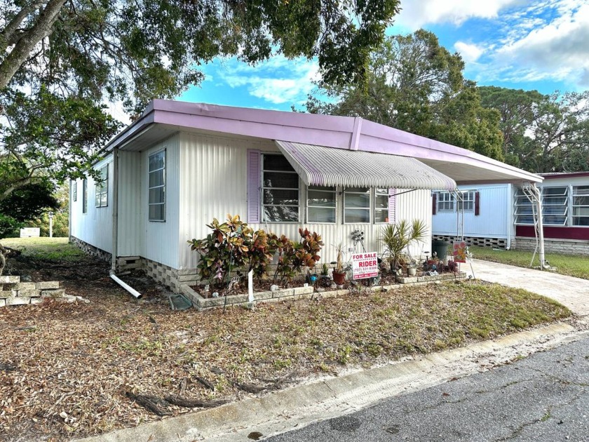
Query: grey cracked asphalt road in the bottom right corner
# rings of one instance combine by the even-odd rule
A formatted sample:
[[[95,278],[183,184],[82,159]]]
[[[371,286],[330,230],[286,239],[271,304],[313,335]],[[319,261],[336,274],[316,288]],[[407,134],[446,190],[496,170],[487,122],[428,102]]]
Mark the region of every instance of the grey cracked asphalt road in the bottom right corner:
[[[264,441],[589,441],[589,337]]]

